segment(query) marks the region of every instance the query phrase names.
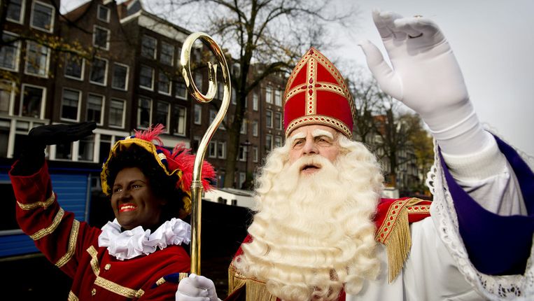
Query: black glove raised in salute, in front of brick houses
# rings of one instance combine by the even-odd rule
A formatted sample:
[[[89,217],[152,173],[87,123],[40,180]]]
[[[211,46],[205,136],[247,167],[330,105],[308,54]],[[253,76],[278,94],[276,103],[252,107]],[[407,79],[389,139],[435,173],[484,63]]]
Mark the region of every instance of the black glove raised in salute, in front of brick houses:
[[[22,142],[19,162],[13,167],[11,173],[14,175],[34,174],[45,162],[46,146],[78,141],[92,134],[92,130],[96,128],[97,124],[94,122],[34,127]]]

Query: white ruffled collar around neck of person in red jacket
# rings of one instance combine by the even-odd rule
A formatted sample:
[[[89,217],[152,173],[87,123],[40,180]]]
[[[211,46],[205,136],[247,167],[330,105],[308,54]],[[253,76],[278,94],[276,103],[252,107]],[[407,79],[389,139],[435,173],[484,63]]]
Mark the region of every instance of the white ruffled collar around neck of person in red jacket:
[[[107,247],[109,254],[118,260],[125,260],[154,253],[158,247],[163,249],[174,244],[189,244],[190,237],[191,226],[178,218],[166,221],[152,234],[141,226],[120,232],[120,225],[115,218],[102,227],[98,245]]]

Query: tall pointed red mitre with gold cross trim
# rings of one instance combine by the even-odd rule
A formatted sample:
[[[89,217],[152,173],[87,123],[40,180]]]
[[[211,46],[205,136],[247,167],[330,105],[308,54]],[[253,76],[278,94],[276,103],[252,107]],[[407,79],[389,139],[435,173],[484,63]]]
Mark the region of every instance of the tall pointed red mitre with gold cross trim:
[[[286,137],[302,125],[327,125],[352,138],[356,107],[341,73],[310,48],[288,79],[283,95]]]

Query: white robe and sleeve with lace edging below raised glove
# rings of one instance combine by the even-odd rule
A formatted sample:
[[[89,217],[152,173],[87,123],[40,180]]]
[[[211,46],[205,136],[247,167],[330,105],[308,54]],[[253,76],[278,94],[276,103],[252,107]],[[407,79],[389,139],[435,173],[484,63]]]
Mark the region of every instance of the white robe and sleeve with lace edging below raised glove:
[[[444,155],[444,159],[456,183],[484,209],[503,216],[526,215],[517,178],[497,144],[468,157]],[[388,283],[386,248],[379,244],[381,274],[374,281],[366,281],[357,295],[347,294],[346,300],[534,300],[534,249],[524,275],[489,276],[478,272],[459,235],[439,158],[433,171],[431,217],[412,223],[412,248],[400,274]],[[513,293],[518,290],[521,297]]]

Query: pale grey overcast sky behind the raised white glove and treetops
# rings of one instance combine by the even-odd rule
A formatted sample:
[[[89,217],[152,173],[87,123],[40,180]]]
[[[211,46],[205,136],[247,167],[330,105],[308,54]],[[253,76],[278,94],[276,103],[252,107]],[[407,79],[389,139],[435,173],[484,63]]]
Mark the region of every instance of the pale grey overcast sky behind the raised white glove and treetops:
[[[62,0],[62,6],[71,10],[84,2]],[[337,37],[342,47],[325,55],[343,57],[363,66],[367,66],[365,57],[356,45],[360,39],[369,39],[385,53],[372,22],[372,8],[435,20],[456,54],[482,123],[516,148],[534,155],[533,0],[335,0],[331,3],[340,8],[356,6],[360,18],[352,34]]]

